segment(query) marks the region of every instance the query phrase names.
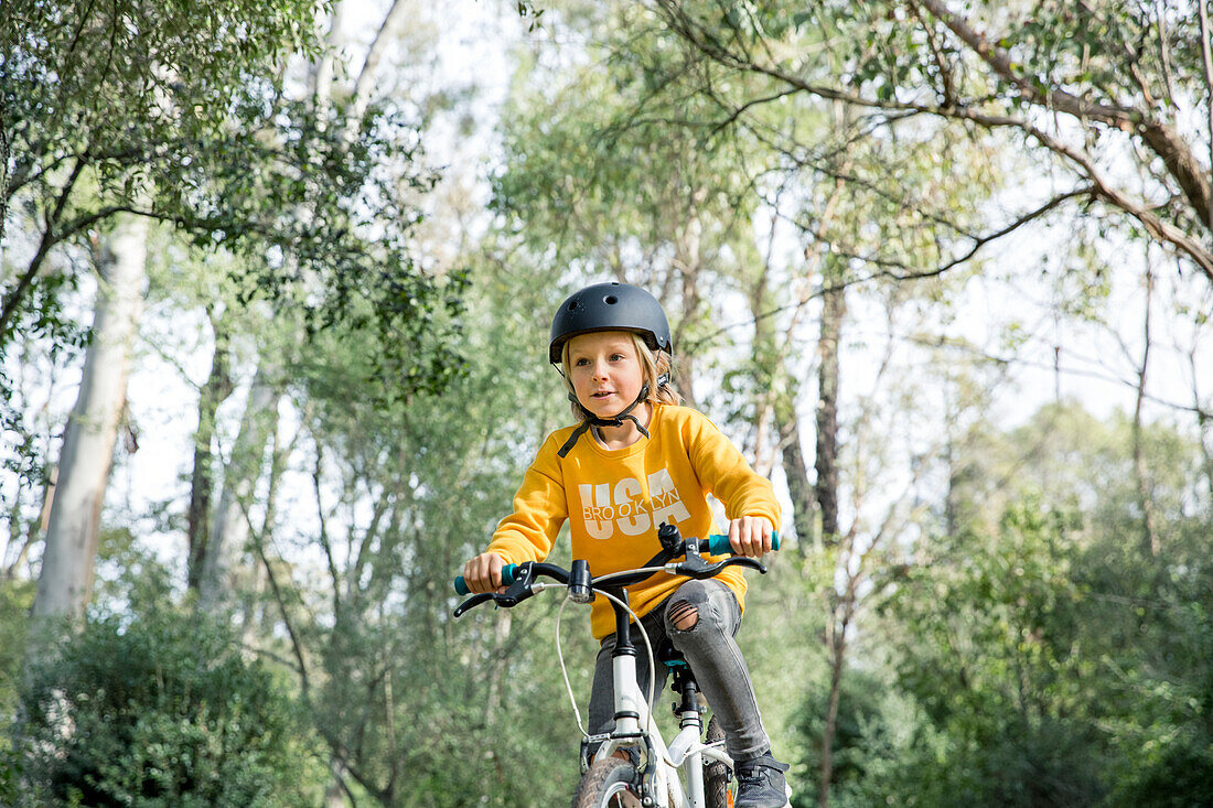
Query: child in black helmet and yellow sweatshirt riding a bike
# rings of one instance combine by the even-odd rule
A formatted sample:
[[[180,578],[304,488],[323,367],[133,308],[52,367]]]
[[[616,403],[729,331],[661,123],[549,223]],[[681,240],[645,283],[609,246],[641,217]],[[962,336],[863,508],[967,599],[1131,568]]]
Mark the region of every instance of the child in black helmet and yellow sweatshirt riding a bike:
[[[770,551],[779,523],[771,485],[711,421],[678,406],[682,399],[670,387],[672,353],[666,314],[643,289],[596,284],[562,303],[548,358],[563,369],[581,423],[548,436],[526,470],[514,512],[497,525],[488,551],[463,565],[468,588],[497,591],[505,564],[543,559],[565,519],[573,557],[585,558],[592,574],[640,567],[661,550],[662,522],[684,536],[713,533],[708,494],[725,506],[735,553]],[[685,655],[724,728],[740,783],[735,808],[782,808],[787,766],[770,755],[734,641],[745,592],[738,567],[705,581],[659,573],[628,588],[654,647],[668,637]],[[615,622],[604,598],[593,604],[591,627],[602,641],[590,696],[591,732],[598,734],[614,722]],[[664,677],[665,666],[657,667]],[[638,665],[642,692],[647,668]],[[659,681],[654,693],[662,689]]]

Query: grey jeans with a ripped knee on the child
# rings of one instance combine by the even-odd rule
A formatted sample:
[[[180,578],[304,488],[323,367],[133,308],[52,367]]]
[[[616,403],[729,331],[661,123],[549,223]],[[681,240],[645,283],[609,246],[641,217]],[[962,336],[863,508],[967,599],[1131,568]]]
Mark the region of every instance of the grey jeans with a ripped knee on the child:
[[[674,628],[670,619],[671,609],[682,611],[684,604],[693,605],[699,621],[687,631]],[[741,658],[741,649],[734,637],[741,626],[741,608],[733,590],[719,581],[690,580],[679,586],[664,603],[640,619],[649,633],[654,653],[667,637],[680,650],[695,672],[699,688],[707,696],[707,704],[721,721],[725,734],[725,747],[733,759],[745,761],[770,750],[770,739],[758,712],[750,670]],[[648,694],[649,660],[644,639],[633,630],[636,645],[636,678],[640,693]],[[615,635],[603,639],[594,664],[594,682],[590,692],[590,726],[592,733],[606,733],[615,726],[615,687],[611,676],[611,651]],[[657,678],[653,696],[660,704],[666,689],[668,668],[657,662]],[[653,705],[649,705],[653,709]]]

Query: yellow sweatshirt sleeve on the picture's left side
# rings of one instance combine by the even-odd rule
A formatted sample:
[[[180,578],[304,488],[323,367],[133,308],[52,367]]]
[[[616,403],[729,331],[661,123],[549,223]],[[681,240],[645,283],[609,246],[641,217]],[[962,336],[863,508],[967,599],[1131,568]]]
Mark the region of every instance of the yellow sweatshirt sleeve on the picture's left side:
[[[522,564],[547,558],[560,525],[569,516],[556,450],[556,438],[548,436],[523,474],[522,486],[514,495],[513,513],[492,531],[488,552],[500,554],[506,563]]]

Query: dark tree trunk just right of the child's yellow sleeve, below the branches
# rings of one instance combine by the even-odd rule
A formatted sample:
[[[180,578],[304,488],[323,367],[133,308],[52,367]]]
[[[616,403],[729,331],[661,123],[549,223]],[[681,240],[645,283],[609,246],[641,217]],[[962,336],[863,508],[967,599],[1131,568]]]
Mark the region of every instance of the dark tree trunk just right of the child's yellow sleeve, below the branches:
[[[821,336],[818,340],[818,507],[826,545],[838,542],[838,349],[847,314],[845,289],[838,273],[822,280]]]

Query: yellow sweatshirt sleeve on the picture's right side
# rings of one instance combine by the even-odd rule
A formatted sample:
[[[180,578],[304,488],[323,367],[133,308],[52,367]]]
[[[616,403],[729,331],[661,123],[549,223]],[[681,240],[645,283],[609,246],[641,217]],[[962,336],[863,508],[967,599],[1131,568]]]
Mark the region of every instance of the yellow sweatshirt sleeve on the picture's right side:
[[[724,505],[729,519],[761,516],[779,530],[780,508],[770,480],[759,476],[741,451],[707,417],[694,419],[689,456],[695,473],[711,494]]]

